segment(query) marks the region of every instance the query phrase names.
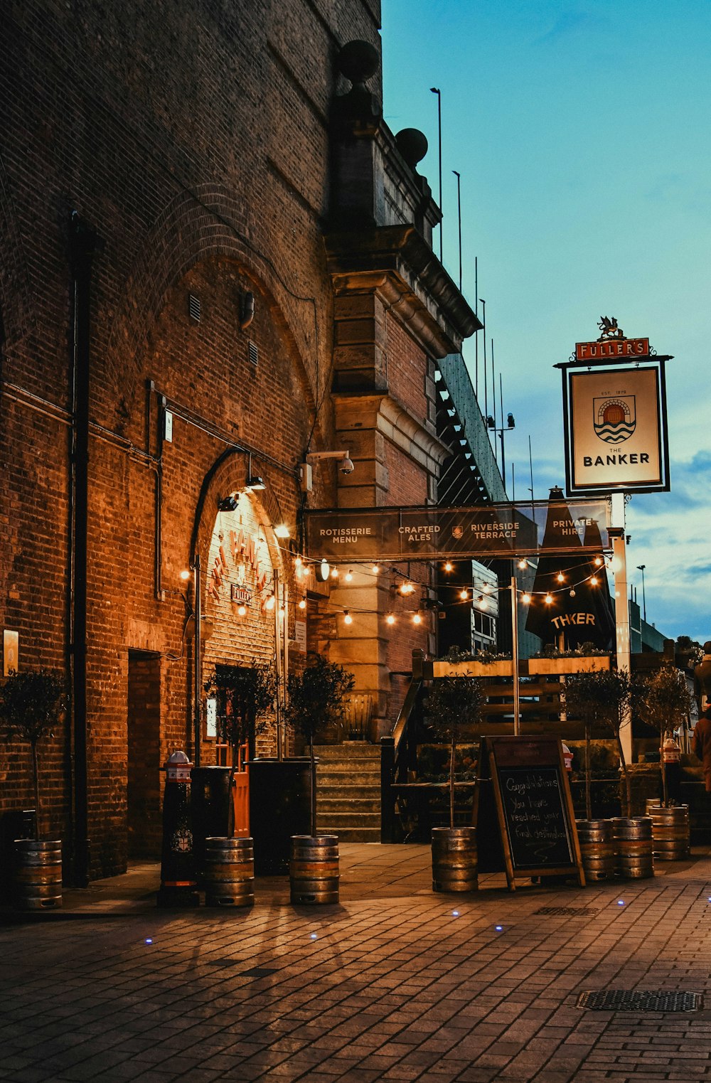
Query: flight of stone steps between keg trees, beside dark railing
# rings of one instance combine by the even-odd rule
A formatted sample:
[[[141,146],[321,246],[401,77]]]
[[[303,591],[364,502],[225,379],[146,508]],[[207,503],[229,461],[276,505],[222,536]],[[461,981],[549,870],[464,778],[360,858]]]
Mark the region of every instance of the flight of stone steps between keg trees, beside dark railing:
[[[317,745],[316,830],[342,843],[380,841],[380,747]]]

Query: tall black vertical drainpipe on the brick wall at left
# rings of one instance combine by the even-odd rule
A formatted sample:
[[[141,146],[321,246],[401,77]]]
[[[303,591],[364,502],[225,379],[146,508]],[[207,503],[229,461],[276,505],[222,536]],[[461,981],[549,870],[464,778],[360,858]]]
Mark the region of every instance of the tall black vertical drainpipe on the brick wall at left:
[[[89,884],[87,772],[87,572],[89,546],[89,382],[91,272],[96,234],[76,211],[69,220],[71,272],[70,652],[74,756],[73,882]]]

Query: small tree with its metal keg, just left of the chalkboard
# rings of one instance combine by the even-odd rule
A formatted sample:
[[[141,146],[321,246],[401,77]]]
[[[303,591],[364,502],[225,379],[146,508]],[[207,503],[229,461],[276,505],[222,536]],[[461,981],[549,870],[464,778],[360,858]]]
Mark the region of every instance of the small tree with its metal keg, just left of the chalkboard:
[[[476,828],[455,826],[455,758],[460,735],[480,721],[480,678],[459,669],[456,650],[447,661],[455,676],[436,678],[426,702],[429,725],[449,744],[449,827],[432,828],[432,889],[472,891],[477,886]]]

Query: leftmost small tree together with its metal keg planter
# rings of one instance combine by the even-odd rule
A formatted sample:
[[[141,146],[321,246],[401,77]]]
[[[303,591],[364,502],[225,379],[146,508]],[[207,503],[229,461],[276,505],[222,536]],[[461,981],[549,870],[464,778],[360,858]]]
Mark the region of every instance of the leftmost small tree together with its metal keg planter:
[[[21,910],[62,905],[62,841],[41,838],[39,742],[53,736],[65,709],[64,683],[45,669],[12,671],[0,688],[0,719],[9,741],[29,743],[35,793],[35,837],[15,841],[15,904]]]

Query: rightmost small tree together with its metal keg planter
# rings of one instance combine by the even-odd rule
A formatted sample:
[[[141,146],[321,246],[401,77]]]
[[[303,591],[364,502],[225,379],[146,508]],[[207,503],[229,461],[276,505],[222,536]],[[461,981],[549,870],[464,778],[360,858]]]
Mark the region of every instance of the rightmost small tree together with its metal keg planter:
[[[651,815],[655,854],[662,860],[689,853],[688,806],[676,804],[676,794],[670,794],[670,779],[676,782],[681,773],[673,732],[686,725],[693,705],[686,678],[675,666],[662,665],[642,684],[640,715],[659,733],[662,800],[661,805],[647,803],[647,812]]]

